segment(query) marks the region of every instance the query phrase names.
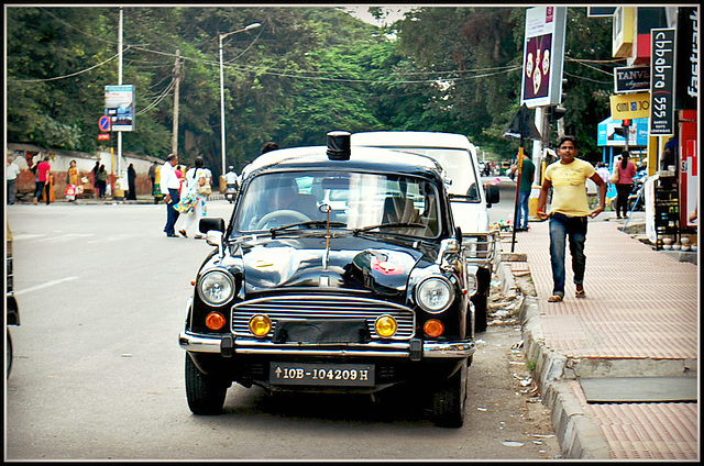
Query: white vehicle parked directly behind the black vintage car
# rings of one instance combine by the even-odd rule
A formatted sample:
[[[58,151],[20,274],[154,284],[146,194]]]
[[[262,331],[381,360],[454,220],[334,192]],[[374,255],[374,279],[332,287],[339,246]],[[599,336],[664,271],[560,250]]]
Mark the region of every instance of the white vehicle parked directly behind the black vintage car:
[[[386,147],[431,157],[440,163],[450,185],[447,186],[454,222],[462,230],[468,264],[479,284],[472,297],[476,312],[476,331],[487,326],[487,307],[496,255],[496,232],[490,229],[487,209],[499,200],[498,187],[481,182],[476,147],[462,134],[416,131],[376,131],[352,134],[351,144]]]

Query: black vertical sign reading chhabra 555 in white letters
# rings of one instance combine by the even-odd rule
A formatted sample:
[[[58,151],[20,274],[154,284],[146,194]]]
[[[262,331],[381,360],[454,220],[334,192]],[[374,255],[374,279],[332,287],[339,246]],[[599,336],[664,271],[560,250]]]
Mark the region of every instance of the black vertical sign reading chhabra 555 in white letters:
[[[674,134],[674,29],[650,30],[650,135]]]

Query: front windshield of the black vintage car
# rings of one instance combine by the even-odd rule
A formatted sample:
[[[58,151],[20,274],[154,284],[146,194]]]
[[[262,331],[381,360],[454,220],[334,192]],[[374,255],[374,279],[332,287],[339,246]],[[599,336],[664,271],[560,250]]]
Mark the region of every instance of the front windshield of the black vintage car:
[[[245,189],[233,235],[294,224],[292,230],[324,229],[328,207],[334,228],[419,237],[437,237],[442,228],[438,190],[424,178],[285,171],[255,176]]]

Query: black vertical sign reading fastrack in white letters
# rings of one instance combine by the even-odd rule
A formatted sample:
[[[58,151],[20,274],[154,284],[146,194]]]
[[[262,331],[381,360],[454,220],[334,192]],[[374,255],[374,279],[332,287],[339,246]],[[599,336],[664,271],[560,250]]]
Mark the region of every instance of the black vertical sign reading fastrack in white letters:
[[[674,93],[676,110],[696,110],[700,96],[698,9],[678,9],[676,81]]]

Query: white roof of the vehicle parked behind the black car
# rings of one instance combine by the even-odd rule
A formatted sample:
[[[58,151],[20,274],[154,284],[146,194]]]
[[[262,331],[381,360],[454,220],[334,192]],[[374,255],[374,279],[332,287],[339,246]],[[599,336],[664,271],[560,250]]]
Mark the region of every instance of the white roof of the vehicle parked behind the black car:
[[[430,131],[369,131],[352,133],[352,146],[369,147],[442,147],[474,149],[463,134]]]

